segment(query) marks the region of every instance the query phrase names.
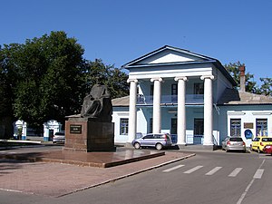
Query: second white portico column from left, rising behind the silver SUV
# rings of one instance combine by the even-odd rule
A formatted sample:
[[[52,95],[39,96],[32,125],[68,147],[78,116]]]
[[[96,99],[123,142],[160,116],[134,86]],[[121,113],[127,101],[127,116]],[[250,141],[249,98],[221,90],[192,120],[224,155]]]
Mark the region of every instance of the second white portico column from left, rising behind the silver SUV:
[[[154,92],[153,92],[153,133],[160,133],[161,130],[161,120],[160,120],[160,83],[162,82],[161,78],[151,79],[151,83],[154,83]]]

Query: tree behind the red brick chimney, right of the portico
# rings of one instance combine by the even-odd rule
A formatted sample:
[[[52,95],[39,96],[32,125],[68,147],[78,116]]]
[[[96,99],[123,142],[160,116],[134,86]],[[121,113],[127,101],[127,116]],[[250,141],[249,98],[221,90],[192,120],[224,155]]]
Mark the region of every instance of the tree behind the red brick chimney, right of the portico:
[[[233,79],[238,83],[238,87],[240,87],[240,75],[239,75],[239,67],[244,66],[245,63],[228,63],[225,64],[224,67],[233,77]],[[254,82],[254,75],[251,73],[246,73],[246,92],[257,92],[257,83]]]

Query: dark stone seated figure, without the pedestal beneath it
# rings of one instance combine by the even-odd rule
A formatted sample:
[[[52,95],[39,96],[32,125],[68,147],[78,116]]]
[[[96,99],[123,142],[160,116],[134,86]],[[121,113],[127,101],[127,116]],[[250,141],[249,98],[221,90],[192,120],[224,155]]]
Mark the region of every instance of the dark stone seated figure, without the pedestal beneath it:
[[[106,85],[97,83],[83,101],[81,117],[93,121],[112,121],[112,99]]]

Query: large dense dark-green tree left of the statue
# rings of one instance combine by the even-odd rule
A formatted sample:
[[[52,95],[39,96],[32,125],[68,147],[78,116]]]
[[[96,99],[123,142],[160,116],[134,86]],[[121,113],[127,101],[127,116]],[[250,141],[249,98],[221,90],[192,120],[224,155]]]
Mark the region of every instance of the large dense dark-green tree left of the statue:
[[[79,110],[83,48],[64,32],[44,34],[25,44],[5,46],[17,74],[15,117],[35,125]]]

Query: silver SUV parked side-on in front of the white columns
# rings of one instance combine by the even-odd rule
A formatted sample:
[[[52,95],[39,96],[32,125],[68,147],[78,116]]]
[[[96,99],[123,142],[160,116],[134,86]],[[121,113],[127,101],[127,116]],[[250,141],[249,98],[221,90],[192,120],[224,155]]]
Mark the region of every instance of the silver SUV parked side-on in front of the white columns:
[[[131,142],[135,149],[140,149],[141,147],[153,147],[157,150],[170,147],[172,145],[170,134],[168,133],[150,133],[139,139],[135,139]]]

